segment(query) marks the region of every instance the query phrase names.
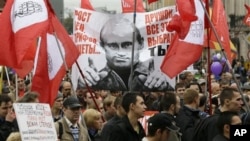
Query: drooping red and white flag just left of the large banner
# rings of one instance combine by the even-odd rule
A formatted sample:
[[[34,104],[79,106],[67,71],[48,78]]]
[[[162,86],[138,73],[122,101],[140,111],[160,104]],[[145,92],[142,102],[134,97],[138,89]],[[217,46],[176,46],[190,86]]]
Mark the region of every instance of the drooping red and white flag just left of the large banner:
[[[69,68],[78,58],[79,51],[55,15],[50,21],[50,29],[42,36],[32,90],[40,93],[40,102],[52,104],[66,74],[59,47]]]

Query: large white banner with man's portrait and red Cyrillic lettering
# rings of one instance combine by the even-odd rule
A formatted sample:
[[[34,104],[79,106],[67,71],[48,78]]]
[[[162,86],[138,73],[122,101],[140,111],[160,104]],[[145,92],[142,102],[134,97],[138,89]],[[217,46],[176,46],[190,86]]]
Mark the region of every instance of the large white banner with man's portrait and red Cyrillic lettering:
[[[160,65],[174,35],[166,27],[175,12],[175,6],[136,15],[75,9],[73,40],[86,81],[74,64],[73,87],[87,83],[104,90],[173,90],[175,79],[163,74]]]

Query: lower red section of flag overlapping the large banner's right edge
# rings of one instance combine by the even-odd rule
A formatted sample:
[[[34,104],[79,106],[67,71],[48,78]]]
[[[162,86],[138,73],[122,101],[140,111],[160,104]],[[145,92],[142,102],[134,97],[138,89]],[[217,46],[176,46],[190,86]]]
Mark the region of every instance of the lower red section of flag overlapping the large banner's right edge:
[[[197,61],[201,54],[201,45],[180,40],[178,34],[175,34],[161,64],[161,70],[173,78]]]

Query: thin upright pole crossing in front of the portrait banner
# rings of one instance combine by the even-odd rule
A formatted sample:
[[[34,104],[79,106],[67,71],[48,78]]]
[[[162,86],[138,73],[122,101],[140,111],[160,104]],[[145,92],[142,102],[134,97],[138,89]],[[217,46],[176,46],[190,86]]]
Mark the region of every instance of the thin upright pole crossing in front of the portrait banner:
[[[133,36],[132,36],[132,52],[131,52],[131,69],[130,69],[130,80],[133,79],[133,75],[134,75],[134,50],[135,50],[135,24],[136,24],[136,6],[137,6],[137,0],[134,0],[134,14],[133,14]],[[131,92],[131,88],[132,88],[132,83],[129,84],[129,91]]]

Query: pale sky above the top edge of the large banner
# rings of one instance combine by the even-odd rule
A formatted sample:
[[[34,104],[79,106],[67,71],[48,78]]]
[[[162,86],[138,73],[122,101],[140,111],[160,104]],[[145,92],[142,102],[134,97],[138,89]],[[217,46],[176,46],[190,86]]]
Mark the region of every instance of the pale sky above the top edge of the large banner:
[[[93,7],[107,7],[107,10],[121,11],[121,1],[119,0],[89,0]],[[70,9],[80,7],[81,0],[64,0],[64,8]]]

